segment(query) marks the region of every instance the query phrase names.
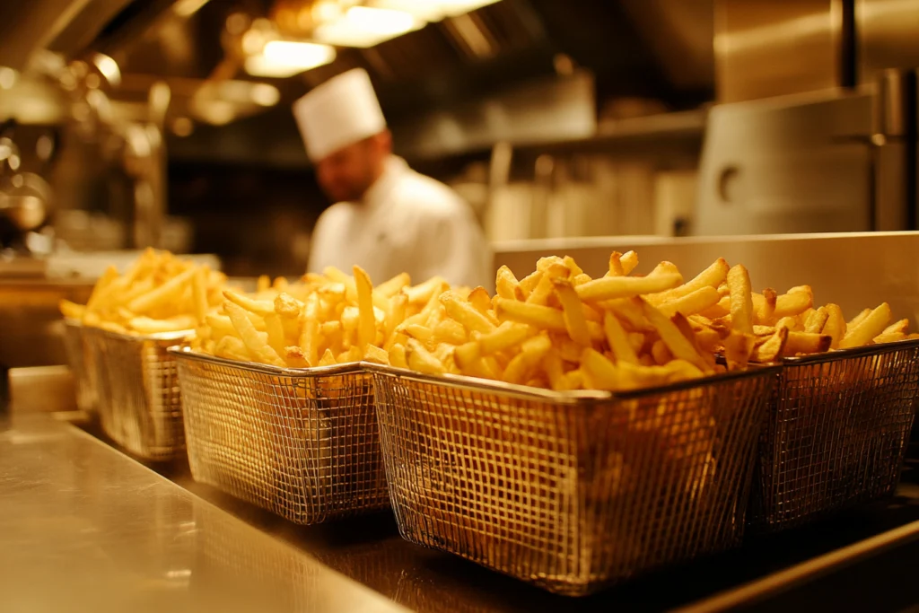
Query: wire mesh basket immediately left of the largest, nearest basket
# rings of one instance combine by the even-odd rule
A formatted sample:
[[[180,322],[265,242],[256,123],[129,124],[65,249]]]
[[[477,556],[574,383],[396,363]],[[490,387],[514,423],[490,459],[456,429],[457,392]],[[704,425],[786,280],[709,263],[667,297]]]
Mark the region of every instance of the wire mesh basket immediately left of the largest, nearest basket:
[[[298,524],[390,505],[359,364],[278,369],[175,350],[196,481]]]

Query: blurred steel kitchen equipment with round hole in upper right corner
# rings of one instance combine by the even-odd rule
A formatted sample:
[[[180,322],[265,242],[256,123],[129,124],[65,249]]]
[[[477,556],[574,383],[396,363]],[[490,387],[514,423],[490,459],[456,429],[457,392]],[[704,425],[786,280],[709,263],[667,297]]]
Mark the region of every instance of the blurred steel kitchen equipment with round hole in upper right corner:
[[[919,0],[720,0],[694,232],[915,229],[916,16]]]

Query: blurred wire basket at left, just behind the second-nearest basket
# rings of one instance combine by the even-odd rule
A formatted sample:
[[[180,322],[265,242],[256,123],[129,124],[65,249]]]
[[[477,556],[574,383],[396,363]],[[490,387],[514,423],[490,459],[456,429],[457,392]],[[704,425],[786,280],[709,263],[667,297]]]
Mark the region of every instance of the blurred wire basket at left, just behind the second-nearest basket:
[[[166,349],[187,334],[133,336],[84,328],[102,429],[142,460],[174,460],[185,451],[176,360]]]

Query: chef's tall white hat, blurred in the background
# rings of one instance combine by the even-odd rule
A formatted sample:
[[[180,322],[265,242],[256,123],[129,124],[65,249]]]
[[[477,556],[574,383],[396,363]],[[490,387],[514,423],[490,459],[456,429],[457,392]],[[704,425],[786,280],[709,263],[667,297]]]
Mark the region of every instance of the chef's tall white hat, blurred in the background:
[[[363,68],[312,89],[293,103],[293,114],[313,162],[386,129],[380,101]]]

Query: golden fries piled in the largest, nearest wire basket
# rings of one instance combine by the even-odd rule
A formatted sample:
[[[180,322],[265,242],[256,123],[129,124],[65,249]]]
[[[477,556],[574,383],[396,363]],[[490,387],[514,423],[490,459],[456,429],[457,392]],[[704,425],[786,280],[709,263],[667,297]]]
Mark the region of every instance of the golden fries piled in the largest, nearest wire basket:
[[[558,391],[632,390],[723,370],[679,310],[697,281],[682,285],[669,262],[630,276],[637,265],[634,252],[614,253],[607,274],[590,278],[573,258],[551,256],[519,280],[502,267],[494,298],[446,291],[398,326],[391,366]]]

